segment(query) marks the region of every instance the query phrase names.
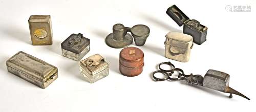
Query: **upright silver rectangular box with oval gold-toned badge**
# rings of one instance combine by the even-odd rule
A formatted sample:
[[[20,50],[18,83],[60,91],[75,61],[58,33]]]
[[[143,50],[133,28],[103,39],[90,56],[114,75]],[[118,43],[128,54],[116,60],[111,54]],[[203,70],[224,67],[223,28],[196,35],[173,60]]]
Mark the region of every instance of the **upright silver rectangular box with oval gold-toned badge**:
[[[29,29],[33,46],[51,45],[53,40],[50,15],[31,15]]]

